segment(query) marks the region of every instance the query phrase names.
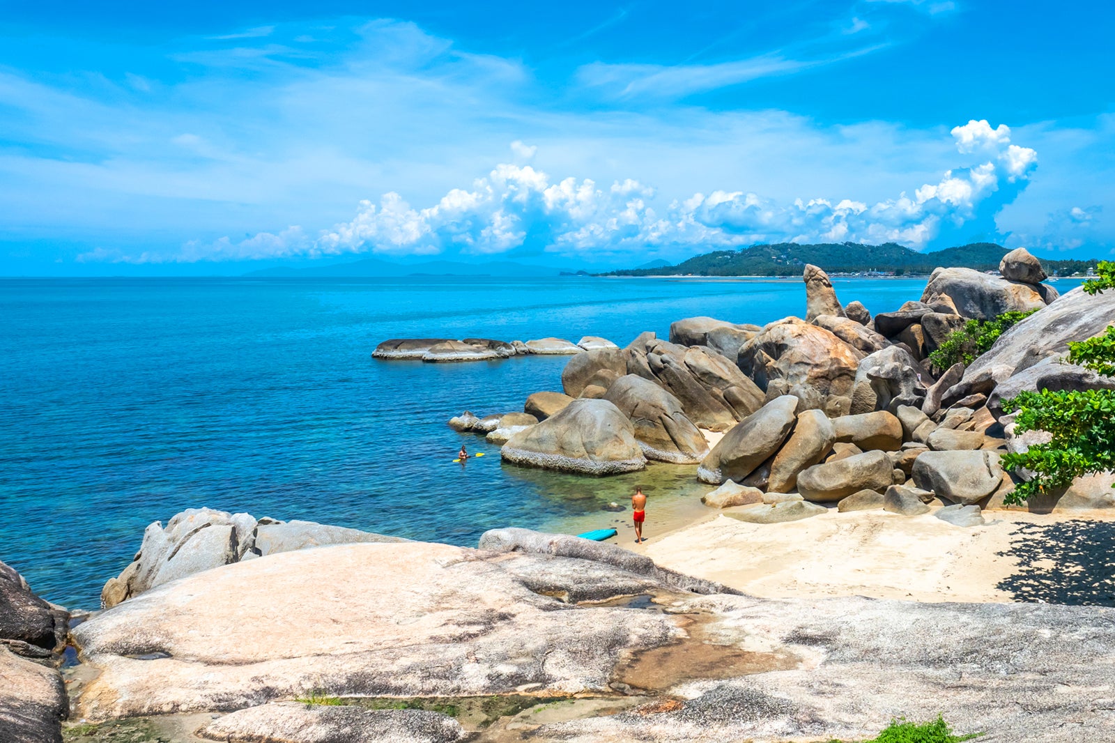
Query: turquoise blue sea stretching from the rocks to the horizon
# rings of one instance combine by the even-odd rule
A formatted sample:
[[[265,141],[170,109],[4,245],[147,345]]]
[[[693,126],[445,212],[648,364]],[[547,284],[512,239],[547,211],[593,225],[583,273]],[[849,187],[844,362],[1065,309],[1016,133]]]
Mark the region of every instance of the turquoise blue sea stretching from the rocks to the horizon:
[[[836,280],[872,312],[923,280]],[[377,361],[391,337],[585,335],[627,345],[708,315],[803,315],[801,281],[0,279],[0,560],[96,608],[144,528],[209,505],[457,544],[501,525],[578,531],[633,483],[707,491],[694,469],[582,479],[500,462],[445,422],[561,389],[564,357]],[[462,441],[487,454],[453,464]]]

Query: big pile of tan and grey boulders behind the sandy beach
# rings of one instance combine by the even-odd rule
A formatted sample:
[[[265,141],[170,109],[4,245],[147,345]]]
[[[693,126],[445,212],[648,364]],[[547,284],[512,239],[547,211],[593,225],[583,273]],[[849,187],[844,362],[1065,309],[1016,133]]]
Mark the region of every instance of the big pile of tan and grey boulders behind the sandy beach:
[[[696,464],[702,482],[747,489],[710,493],[716,508],[757,503],[755,491],[768,506],[770,494],[796,493],[837,504],[854,496],[844,510],[913,513],[909,493],[890,490],[910,480],[933,503],[1001,504],[1015,482],[998,463],[1011,440],[1001,399],[1115,387],[1063,363],[1068,341],[1115,318],[1115,292],[1058,299],[1024,249],[1006,254],[1000,272],[937,269],[920,300],[872,317],[859,302],[842,306],[828,276],[806,266],[805,319],[694,317],[673,322],[668,341],[643,332],[624,348],[582,339],[588,350],[566,364],[563,392],[527,398],[525,413],[542,423],[518,422],[503,457],[586,474],[646,460]],[[969,368],[929,361],[968,320],[1034,309]],[[581,413],[559,415],[573,403]],[[500,419],[466,412],[450,425],[492,435]],[[710,446],[712,433],[724,436]],[[1115,505],[1096,490],[1082,485],[1059,505]]]

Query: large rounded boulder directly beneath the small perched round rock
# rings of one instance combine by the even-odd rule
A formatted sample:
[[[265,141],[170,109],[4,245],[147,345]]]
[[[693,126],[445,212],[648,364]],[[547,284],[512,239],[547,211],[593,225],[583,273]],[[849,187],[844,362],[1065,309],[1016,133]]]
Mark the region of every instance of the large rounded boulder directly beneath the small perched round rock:
[[[949,297],[960,315],[979,320],[1046,306],[1043,292],[1032,284],[964,268],[939,268],[930,274],[921,300],[932,303],[938,296]]]

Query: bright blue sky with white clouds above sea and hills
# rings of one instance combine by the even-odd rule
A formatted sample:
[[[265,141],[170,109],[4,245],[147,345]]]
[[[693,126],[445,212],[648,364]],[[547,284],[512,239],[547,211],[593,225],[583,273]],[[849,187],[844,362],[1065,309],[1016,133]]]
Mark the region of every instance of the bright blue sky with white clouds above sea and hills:
[[[0,273],[1115,248],[1108,3],[0,2]]]

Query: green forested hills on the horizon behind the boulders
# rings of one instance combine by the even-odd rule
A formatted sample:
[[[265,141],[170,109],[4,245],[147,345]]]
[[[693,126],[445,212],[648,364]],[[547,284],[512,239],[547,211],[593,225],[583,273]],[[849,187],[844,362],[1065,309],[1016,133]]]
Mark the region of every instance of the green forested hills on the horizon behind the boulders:
[[[893,242],[881,245],[780,242],[741,250],[716,250],[677,266],[640,266],[607,276],[801,276],[806,263],[820,266],[830,273],[925,274],[938,267],[988,271],[999,268],[999,260],[1006,252],[1006,248],[993,242],[973,242],[929,253]],[[1039,260],[1050,276],[1083,273],[1096,264],[1095,260],[1046,260],[1040,257]]]

